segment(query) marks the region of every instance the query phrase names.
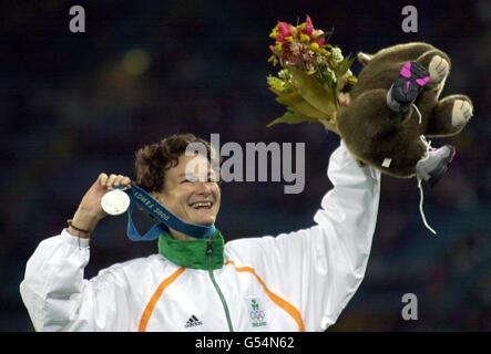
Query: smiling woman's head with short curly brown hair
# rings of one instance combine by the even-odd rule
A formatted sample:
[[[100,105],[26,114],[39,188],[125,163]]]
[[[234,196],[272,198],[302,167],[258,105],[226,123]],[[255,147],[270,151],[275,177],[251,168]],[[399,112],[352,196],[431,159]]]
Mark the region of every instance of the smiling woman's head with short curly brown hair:
[[[206,156],[184,154],[187,146],[196,143],[205,146]],[[221,190],[219,180],[212,178],[211,156],[212,147],[206,140],[193,134],[173,135],[136,153],[136,184],[182,221],[213,225],[219,210]],[[190,171],[186,167],[192,162],[195,168]],[[193,239],[176,230],[170,231],[175,239]]]

